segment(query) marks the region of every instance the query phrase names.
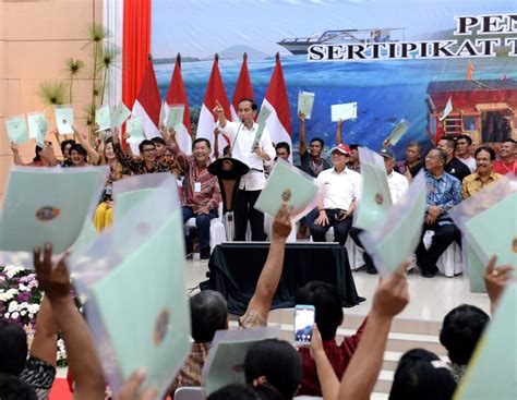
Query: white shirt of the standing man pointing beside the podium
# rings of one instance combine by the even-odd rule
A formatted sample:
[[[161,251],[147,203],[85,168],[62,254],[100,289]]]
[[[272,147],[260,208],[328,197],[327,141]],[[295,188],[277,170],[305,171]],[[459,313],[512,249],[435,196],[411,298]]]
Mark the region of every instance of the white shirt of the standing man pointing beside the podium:
[[[241,178],[239,189],[245,191],[260,191],[264,189],[266,184],[264,159],[252,151],[258,124],[254,123],[250,130],[243,123],[232,121],[227,121],[225,128],[218,126],[230,140],[230,146],[233,146],[231,157],[237,158],[250,167],[250,172]],[[267,153],[270,159],[275,157],[275,148],[273,147],[267,128],[264,128],[260,146],[263,151]]]

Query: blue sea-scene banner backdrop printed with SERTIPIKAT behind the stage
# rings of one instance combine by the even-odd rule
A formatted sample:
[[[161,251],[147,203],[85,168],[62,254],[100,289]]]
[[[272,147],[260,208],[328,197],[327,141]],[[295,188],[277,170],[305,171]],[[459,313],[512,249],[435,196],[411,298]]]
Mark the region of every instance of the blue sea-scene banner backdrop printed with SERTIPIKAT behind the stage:
[[[261,107],[280,53],[294,159],[298,94],[315,94],[308,141],[335,142],[330,106],[357,102],[344,142],[382,146],[402,118],[398,155],[444,134],[517,138],[515,0],[153,0],[152,52],[165,97],[178,52],[195,132],[214,53],[231,101],[242,64]]]

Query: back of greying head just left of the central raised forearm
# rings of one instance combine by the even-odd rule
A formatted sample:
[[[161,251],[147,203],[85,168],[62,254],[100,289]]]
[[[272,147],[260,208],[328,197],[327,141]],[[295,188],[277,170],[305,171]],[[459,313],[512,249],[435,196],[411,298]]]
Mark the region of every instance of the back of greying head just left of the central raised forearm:
[[[219,292],[204,290],[190,298],[190,315],[192,338],[197,343],[207,343],[216,330],[227,328],[228,305]]]

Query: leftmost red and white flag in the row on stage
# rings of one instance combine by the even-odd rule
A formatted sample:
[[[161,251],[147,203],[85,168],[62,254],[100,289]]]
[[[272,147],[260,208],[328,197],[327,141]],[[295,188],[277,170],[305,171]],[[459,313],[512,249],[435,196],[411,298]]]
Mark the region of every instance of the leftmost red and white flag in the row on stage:
[[[160,136],[158,130],[160,109],[161,97],[159,96],[153,60],[149,56],[144,78],[140,85],[139,96],[134,101],[132,111],[133,117],[142,118],[142,125],[147,138]]]

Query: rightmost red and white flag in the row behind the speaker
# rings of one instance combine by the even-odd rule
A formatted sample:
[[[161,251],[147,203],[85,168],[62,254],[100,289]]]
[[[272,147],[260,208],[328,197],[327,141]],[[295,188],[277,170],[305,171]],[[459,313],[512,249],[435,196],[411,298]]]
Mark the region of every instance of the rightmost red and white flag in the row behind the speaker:
[[[262,104],[262,107],[264,106],[272,110],[269,118],[266,120],[266,126],[269,130],[273,143],[287,142],[292,147],[289,99],[284,72],[281,71],[280,54],[278,53],[276,54],[275,70]]]

